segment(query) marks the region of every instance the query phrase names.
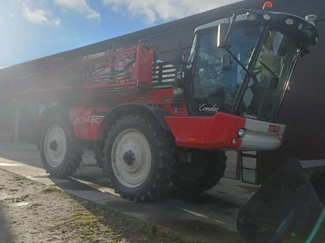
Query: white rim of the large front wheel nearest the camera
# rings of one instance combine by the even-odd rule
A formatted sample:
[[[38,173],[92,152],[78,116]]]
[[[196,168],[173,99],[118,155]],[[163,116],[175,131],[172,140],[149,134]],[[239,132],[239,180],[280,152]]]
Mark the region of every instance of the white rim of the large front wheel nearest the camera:
[[[131,163],[123,161],[123,155],[131,151]],[[111,163],[119,182],[128,188],[140,186],[148,177],[151,167],[150,146],[143,134],[136,129],[121,132],[113,143]]]

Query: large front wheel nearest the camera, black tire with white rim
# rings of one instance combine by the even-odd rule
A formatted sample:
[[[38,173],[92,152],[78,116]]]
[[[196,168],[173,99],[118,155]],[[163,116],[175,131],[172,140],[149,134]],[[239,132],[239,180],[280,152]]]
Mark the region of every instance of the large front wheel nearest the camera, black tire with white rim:
[[[144,115],[117,120],[105,141],[110,185],[122,198],[145,201],[160,195],[171,182],[175,139]]]

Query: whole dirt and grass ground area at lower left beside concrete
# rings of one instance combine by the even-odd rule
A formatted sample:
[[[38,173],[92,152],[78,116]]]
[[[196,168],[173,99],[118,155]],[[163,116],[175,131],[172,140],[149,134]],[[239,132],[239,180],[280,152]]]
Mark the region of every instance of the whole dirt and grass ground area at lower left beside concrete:
[[[210,242],[237,242],[238,237]],[[0,169],[0,243],[205,243]]]

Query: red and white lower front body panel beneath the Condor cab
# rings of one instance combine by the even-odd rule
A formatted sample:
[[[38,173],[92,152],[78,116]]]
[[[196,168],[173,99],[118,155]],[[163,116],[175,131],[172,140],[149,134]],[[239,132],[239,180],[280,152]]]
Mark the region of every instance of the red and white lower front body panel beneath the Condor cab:
[[[177,146],[207,150],[271,150],[285,125],[217,112],[214,116],[164,116]],[[237,136],[240,128],[245,135]],[[232,140],[236,139],[235,144]]]

